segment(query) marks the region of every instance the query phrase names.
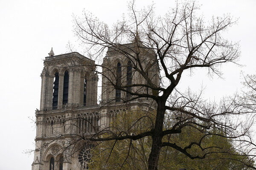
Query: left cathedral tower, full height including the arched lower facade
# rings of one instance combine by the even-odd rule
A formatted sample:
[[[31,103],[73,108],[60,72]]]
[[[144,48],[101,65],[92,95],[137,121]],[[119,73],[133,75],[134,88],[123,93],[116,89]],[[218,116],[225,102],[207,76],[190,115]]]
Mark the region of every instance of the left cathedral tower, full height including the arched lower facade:
[[[93,133],[92,126],[98,126],[97,113],[88,113],[97,107],[95,68],[93,60],[77,52],[54,55],[51,49],[45,58],[32,170],[80,170],[84,164],[67,153],[74,138],[67,134]]]

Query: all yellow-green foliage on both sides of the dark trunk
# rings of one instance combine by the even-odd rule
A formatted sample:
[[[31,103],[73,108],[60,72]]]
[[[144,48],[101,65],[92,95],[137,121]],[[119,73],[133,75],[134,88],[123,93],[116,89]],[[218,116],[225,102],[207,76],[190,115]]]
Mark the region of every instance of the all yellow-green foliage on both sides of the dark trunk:
[[[155,113],[127,111],[116,115],[111,131],[121,135],[143,133],[152,128]],[[168,124],[168,122],[166,122]],[[214,130],[212,130],[214,133]],[[108,137],[108,136],[104,136]],[[179,134],[165,136],[163,142],[176,143],[184,148],[191,142],[200,142],[202,150],[193,144],[188,152],[204,156],[205,159],[189,159],[185,154],[172,147],[162,147],[158,164],[159,170],[250,170],[242,162],[249,162],[232,147],[231,140],[217,135],[204,134],[199,128],[186,126]],[[132,141],[104,141],[93,149],[90,168],[93,170],[147,170],[148,156],[151,149],[151,136]],[[241,162],[240,162],[241,161]]]

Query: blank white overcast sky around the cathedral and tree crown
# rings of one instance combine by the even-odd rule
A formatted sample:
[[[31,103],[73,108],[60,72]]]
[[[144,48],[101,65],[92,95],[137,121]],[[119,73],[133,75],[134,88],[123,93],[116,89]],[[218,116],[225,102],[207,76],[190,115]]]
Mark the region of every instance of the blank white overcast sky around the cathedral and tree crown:
[[[150,3],[137,0],[137,6]],[[155,0],[157,14],[172,7],[174,0]],[[200,0],[205,17],[230,13],[239,23],[229,29],[227,38],[240,41],[240,64],[223,65],[224,79],[207,74],[184,76],[181,87],[198,91],[206,88],[207,99],[220,98],[240,91],[241,71],[255,74],[256,1]],[[55,55],[64,54],[68,41],[83,52],[73,34],[72,15],[91,11],[100,20],[112,24],[126,13],[126,0],[0,0],[0,170],[29,170],[33,161],[24,154],[34,149],[35,119],[40,104],[43,59],[53,47]],[[79,50],[80,49],[80,50]],[[202,70],[200,71],[202,72]],[[206,73],[206,71],[205,71]]]

